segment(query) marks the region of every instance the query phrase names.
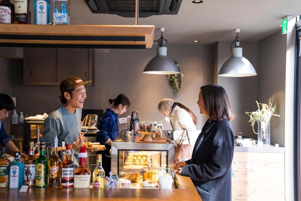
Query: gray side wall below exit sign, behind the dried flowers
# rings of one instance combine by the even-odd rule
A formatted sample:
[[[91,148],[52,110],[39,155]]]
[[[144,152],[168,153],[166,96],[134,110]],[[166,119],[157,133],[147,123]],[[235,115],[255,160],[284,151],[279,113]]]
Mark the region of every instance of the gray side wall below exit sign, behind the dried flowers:
[[[273,106],[277,103],[271,118],[271,142],[284,146],[285,126],[285,69],[287,38],[278,31],[259,41],[258,101],[268,103],[275,92]]]

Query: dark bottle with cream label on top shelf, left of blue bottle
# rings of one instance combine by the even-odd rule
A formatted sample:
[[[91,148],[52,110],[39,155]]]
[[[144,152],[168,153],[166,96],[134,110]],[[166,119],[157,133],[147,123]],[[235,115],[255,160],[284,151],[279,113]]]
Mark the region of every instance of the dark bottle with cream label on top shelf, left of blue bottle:
[[[15,0],[15,24],[29,23],[29,0]]]

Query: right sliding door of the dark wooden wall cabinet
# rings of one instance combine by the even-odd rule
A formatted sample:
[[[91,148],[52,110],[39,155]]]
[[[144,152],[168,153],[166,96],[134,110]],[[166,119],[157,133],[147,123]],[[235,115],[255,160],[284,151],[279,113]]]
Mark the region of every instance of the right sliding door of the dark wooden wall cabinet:
[[[79,77],[84,82],[92,80],[93,60],[92,49],[57,49],[57,80],[70,76]]]

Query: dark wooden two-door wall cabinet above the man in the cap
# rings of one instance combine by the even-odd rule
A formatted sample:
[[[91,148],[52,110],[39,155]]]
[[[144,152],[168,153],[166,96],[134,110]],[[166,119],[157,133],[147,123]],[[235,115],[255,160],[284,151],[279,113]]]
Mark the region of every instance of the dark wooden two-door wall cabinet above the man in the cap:
[[[60,85],[76,76],[94,86],[94,59],[94,49],[24,48],[23,84]]]

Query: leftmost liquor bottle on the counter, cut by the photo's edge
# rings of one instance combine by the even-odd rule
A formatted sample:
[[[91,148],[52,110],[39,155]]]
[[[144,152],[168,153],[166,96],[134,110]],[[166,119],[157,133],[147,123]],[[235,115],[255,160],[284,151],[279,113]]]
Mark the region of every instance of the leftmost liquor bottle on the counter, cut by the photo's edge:
[[[8,165],[11,161],[6,158],[6,149],[1,147],[0,153],[0,188],[8,187]]]

